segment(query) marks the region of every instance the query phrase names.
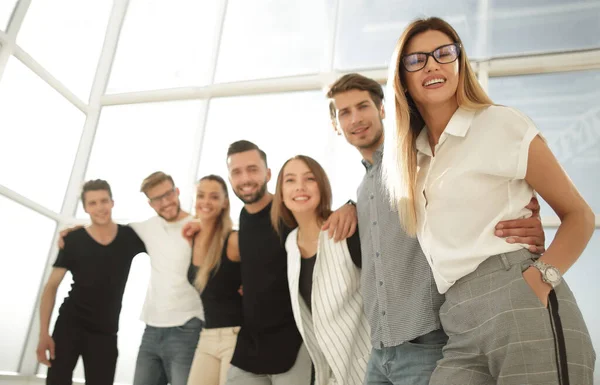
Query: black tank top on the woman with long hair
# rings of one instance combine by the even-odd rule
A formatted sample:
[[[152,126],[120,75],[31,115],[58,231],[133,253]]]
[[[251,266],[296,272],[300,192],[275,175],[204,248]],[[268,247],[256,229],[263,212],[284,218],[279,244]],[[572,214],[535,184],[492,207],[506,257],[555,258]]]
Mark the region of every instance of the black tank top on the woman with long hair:
[[[206,287],[200,294],[204,305],[206,329],[242,325],[242,296],[238,293],[242,284],[242,275],[240,263],[227,258],[227,242],[230,235],[231,233],[225,239],[219,268],[211,273]],[[190,261],[188,280],[192,286],[197,272],[198,267]]]

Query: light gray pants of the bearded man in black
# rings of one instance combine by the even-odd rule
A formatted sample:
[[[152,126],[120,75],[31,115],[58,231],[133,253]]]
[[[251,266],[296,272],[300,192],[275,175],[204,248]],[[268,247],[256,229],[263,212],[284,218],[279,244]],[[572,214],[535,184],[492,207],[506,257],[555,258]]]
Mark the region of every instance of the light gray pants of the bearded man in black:
[[[254,374],[231,365],[226,385],[310,385],[312,364],[302,344],[290,370],[281,374]]]

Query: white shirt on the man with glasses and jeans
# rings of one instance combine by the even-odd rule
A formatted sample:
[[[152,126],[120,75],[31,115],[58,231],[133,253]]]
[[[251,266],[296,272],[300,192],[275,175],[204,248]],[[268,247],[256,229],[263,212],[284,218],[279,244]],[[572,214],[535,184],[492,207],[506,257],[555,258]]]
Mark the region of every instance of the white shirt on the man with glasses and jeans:
[[[174,327],[194,317],[204,319],[200,295],[187,279],[192,249],[181,235],[192,219],[167,222],[156,216],[130,224],[150,256],[150,282],[140,317],[147,325]]]

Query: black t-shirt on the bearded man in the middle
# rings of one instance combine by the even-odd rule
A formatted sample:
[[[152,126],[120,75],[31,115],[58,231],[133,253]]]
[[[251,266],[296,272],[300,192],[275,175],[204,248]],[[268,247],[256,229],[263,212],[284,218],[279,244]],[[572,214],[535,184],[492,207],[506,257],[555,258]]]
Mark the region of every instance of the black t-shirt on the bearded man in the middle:
[[[287,372],[302,344],[287,279],[283,240],[289,230],[280,238],[271,225],[270,212],[269,203],[258,213],[244,208],[240,214],[244,324],[231,363],[255,374]]]

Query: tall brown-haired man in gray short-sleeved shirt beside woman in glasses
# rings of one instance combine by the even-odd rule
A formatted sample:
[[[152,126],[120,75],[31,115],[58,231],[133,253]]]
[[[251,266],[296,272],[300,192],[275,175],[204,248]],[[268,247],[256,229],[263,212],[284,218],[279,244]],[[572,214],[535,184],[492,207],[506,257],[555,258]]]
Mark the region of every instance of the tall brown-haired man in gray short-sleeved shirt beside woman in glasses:
[[[441,329],[439,294],[416,238],[400,225],[381,176],[383,90],[359,74],[338,79],[327,94],[336,131],[362,155],[366,173],[357,193],[362,251],[362,293],[373,346],[365,384],[427,385],[447,336]],[[528,208],[539,211],[537,202]],[[542,252],[538,218],[502,223],[496,235]]]

